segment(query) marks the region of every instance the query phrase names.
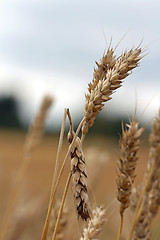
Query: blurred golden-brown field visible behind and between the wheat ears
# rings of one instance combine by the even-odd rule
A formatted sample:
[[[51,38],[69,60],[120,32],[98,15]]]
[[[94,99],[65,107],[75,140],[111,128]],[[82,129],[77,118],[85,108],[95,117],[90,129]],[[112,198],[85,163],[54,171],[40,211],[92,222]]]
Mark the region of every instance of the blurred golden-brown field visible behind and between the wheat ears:
[[[1,183],[0,183],[0,212],[2,221],[9,196],[14,186],[16,174],[23,158],[23,144],[25,133],[19,131],[0,131],[1,146]],[[54,161],[58,144],[58,136],[46,135],[40,146],[34,151],[31,163],[22,183],[18,202],[12,215],[6,239],[40,239],[43,224],[46,216],[49,200],[51,181],[53,176]],[[85,140],[84,154],[87,161],[89,192],[91,204],[107,207],[107,221],[104,226],[102,237],[109,236],[116,238],[119,225],[118,201],[116,200],[116,160],[118,157],[118,141],[116,138],[89,136]],[[65,155],[68,143],[64,142],[61,159]],[[137,168],[136,183],[140,182],[145,171],[148,144],[143,139],[140,149],[140,160]],[[66,179],[66,172],[69,169],[69,162],[66,165],[63,179],[60,183],[58,196],[62,194],[62,187]],[[57,198],[58,201],[58,198]],[[67,233],[73,234],[72,239],[77,239],[81,232],[81,221],[77,222],[74,209],[74,202],[71,193],[71,186],[67,197],[67,208],[69,211],[69,222]],[[128,234],[131,223],[129,211],[126,213],[126,222],[123,236]],[[159,218],[154,221],[153,236],[158,239]],[[76,221],[75,221],[76,220]],[[74,229],[72,224],[75,224]],[[77,223],[76,223],[77,222]],[[106,235],[107,234],[107,235]],[[68,239],[68,238],[67,238]]]

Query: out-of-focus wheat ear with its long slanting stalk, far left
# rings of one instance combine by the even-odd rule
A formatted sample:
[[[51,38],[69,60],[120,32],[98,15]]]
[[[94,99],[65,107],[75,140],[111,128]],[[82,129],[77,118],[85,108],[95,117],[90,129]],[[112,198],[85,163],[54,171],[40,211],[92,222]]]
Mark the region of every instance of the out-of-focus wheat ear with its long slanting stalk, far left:
[[[4,215],[2,229],[0,231],[0,240],[3,240],[7,231],[7,227],[9,224],[9,219],[12,214],[13,208],[18,198],[18,193],[20,191],[20,187],[22,181],[24,179],[25,173],[28,169],[31,155],[33,149],[40,143],[43,135],[43,126],[46,118],[47,111],[52,104],[52,98],[50,96],[46,96],[40,108],[39,113],[37,114],[29,132],[26,137],[25,145],[24,145],[24,158],[17,174],[16,182],[13,187],[13,191],[11,193],[11,197],[7,206],[6,213]]]

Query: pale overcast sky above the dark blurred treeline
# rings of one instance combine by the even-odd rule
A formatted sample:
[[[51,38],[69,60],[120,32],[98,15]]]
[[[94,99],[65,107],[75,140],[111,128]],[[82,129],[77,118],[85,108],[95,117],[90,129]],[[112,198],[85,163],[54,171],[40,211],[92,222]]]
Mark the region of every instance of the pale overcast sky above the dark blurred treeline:
[[[117,53],[148,45],[148,55],[107,103],[104,113],[139,113],[154,117],[160,106],[160,2],[157,0],[1,0],[0,95],[22,103],[23,118],[36,113],[42,97],[55,98],[50,123],[60,123],[63,109],[83,113],[84,94],[107,42],[127,33]],[[136,94],[135,94],[136,92]],[[137,97],[136,97],[137,96]]]

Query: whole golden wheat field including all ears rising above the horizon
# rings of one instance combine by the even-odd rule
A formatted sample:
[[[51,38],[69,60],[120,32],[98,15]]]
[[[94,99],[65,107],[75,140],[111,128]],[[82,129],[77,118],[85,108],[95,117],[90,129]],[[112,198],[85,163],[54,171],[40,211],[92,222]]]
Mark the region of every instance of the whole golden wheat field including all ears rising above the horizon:
[[[141,138],[147,126],[136,112],[122,124],[119,143],[88,134],[144,51],[116,56],[109,47],[96,62],[77,130],[66,108],[60,137],[43,134],[50,96],[27,135],[1,130],[0,240],[159,239],[160,113],[149,139]]]

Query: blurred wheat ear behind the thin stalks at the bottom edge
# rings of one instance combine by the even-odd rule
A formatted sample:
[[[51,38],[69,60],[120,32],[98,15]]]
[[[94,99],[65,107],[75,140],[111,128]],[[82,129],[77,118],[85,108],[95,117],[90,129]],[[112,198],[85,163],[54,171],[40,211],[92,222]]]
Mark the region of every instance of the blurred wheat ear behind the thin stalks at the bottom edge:
[[[48,240],[52,239],[55,223],[56,223],[57,216],[58,216],[59,207],[60,207],[60,202],[57,201],[55,203],[55,205],[52,209],[52,213],[51,213],[51,219],[50,219],[50,223],[49,223],[48,237],[47,237]],[[65,239],[65,229],[66,229],[67,223],[68,223],[67,213],[68,213],[68,210],[67,210],[67,207],[65,205],[63,210],[62,210],[62,214],[61,214],[58,229],[57,229],[57,234],[56,234],[56,239],[57,240]]]

